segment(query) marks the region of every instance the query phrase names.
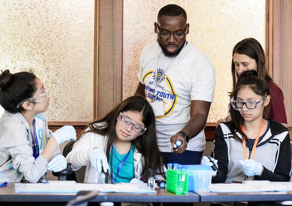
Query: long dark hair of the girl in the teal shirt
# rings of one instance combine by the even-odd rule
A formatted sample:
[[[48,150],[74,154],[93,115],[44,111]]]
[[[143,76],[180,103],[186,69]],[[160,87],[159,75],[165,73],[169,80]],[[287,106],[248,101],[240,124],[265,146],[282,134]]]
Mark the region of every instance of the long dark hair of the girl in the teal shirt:
[[[152,107],[143,97],[131,96],[123,100],[123,102],[119,103],[119,105],[113,108],[109,113],[98,118],[94,122],[91,122],[86,128],[87,131],[84,131],[82,134],[93,132],[107,137],[105,154],[109,160],[110,148],[116,137],[115,127],[117,117],[119,116],[119,113],[123,111],[141,112],[143,118],[142,121],[147,128],[144,134],[137,136],[137,138],[132,140],[135,150],[140,152],[144,157],[145,164],[141,174],[141,180],[146,182],[148,168],[151,168],[153,171],[158,171],[158,174],[161,174],[166,179],[166,171],[163,171],[163,164],[166,162],[166,157],[158,149],[155,116]],[[107,174],[107,176],[109,177],[109,174]]]

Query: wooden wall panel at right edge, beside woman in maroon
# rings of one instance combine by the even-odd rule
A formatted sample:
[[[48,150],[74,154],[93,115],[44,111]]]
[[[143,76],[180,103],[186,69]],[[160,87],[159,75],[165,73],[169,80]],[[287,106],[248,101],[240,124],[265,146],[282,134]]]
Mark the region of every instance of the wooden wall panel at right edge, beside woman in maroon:
[[[288,128],[292,128],[292,1],[273,1],[273,70],[275,82],[284,95]]]

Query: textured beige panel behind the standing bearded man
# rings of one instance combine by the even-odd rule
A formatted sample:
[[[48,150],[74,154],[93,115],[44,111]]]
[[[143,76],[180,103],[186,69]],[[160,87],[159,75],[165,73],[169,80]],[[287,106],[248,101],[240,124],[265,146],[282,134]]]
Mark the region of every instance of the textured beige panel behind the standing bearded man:
[[[123,99],[134,94],[143,47],[156,41],[154,22],[160,8],[177,4],[187,12],[187,40],[200,49],[216,70],[214,103],[207,122],[225,117],[232,88],[231,60],[234,45],[254,37],[265,47],[265,0],[124,0]]]

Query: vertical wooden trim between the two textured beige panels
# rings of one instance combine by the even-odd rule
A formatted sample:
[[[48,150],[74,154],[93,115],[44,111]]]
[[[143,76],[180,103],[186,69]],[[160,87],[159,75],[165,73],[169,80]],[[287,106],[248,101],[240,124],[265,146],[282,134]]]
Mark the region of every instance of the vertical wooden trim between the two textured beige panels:
[[[123,0],[99,1],[97,117],[122,100]]]

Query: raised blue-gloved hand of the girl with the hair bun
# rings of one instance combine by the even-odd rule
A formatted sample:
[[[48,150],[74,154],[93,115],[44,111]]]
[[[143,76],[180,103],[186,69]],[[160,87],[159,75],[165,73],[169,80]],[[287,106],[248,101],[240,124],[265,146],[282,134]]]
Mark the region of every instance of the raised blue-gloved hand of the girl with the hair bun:
[[[54,136],[54,138],[58,142],[58,145],[70,139],[76,140],[76,131],[71,125],[63,126],[60,129],[57,129],[51,135]]]

